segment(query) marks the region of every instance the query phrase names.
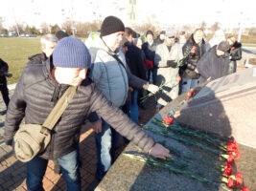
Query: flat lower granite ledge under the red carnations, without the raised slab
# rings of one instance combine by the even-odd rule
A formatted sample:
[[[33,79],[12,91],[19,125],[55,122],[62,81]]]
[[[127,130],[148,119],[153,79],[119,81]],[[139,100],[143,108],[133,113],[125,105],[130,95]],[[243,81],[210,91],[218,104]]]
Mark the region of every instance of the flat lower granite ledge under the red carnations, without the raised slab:
[[[175,101],[164,107],[155,117],[165,117],[186,95],[179,96]],[[151,123],[151,120],[147,125],[159,129]],[[174,146],[180,151],[184,151],[189,154],[197,155],[200,158],[210,160],[212,162],[220,162],[220,158],[212,153],[205,152],[199,149],[197,146],[184,145],[171,138],[163,138],[158,135],[154,135],[147,131],[149,135],[155,140],[166,140],[167,145]],[[193,139],[193,138],[192,138]],[[194,139],[195,140],[195,139]],[[198,142],[200,142],[198,140]],[[210,146],[210,145],[208,145]],[[211,147],[211,146],[210,146]],[[129,143],[128,147],[124,151],[125,153],[141,152],[134,144]],[[241,159],[236,160],[233,163],[232,168],[235,173],[237,170],[241,171],[244,176],[244,185],[247,186],[250,191],[256,191],[256,184],[254,177],[256,176],[256,150],[240,145]],[[178,159],[175,157],[175,159]],[[183,159],[182,159],[183,160]],[[186,160],[186,162],[189,162]],[[208,164],[191,160],[191,164],[187,167],[187,170],[194,172],[200,177],[209,180],[219,180],[219,174],[217,170],[212,169]],[[222,160],[224,163],[224,160]],[[214,174],[214,175],[213,175]],[[115,161],[112,167],[105,175],[104,180],[100,182],[96,188],[98,191],[158,191],[158,190],[177,190],[177,191],[223,191],[221,185],[215,185],[211,183],[200,182],[193,180],[186,175],[175,174],[170,170],[163,169],[155,166],[148,166],[144,162],[128,159],[124,155]]]

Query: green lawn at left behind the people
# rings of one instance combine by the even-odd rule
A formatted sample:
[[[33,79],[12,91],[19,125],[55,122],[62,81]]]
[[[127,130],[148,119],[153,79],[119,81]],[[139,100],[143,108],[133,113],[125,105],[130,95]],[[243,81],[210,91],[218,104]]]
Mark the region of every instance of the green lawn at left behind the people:
[[[12,77],[7,78],[8,84],[16,83],[28,57],[40,53],[40,38],[0,38],[0,58],[9,65]]]

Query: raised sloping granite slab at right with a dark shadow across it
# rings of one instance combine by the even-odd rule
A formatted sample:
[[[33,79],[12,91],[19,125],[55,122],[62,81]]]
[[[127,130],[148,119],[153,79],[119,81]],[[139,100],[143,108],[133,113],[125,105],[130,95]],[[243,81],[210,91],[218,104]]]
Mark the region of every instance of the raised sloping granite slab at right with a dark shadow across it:
[[[230,74],[204,86],[175,120],[256,148],[256,68]]]

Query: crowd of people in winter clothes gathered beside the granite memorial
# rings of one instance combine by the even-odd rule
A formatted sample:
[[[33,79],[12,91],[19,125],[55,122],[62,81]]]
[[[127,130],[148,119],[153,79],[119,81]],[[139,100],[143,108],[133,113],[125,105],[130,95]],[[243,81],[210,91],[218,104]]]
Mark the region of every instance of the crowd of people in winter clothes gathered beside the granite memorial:
[[[29,190],[43,190],[48,159],[55,160],[67,190],[81,190],[78,146],[85,119],[95,132],[98,180],[113,163],[121,137],[153,157],[171,158],[168,149],[139,127],[138,107],[145,107],[140,97],[155,94],[159,111],[198,83],[235,73],[236,61],[242,58],[242,45],[233,35],[209,42],[202,29],[190,36],[173,29],[159,32],[157,38],[154,35],[146,32],[144,42],[119,18],[107,16],[100,32],[92,32],[84,43],[62,31],[41,37],[42,53],[29,57],[10,103],[4,98],[6,144],[12,146],[23,117],[25,123],[42,124],[68,86],[78,88],[51,131],[50,144],[27,162]],[[176,80],[178,76],[181,81]]]

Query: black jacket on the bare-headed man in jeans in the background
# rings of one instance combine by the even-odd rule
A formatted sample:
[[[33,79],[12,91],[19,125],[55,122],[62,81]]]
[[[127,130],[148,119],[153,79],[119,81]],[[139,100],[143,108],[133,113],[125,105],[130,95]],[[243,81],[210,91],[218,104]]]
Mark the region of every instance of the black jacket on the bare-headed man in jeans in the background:
[[[196,53],[190,53],[192,50],[192,47],[196,47]],[[193,34],[189,37],[187,42],[182,47],[183,55],[188,55],[188,57],[185,60],[184,66],[181,68],[181,75],[184,78],[190,78],[190,79],[198,79],[199,75],[195,72],[198,64],[198,60],[201,58],[201,56],[206,52],[206,45],[204,39],[201,41],[201,45],[199,46],[193,37]]]

